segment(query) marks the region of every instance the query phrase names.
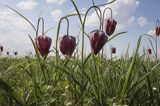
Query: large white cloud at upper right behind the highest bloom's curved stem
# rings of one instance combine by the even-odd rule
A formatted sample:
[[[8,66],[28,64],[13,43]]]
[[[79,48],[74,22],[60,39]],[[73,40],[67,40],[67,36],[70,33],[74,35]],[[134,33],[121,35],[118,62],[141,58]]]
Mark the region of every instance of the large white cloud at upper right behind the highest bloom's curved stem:
[[[110,2],[110,0],[108,2]],[[138,5],[139,1],[137,0],[116,0],[114,3],[108,6],[101,7],[101,10],[103,12],[106,7],[112,8],[113,18],[118,22],[118,29],[121,29],[135,22],[135,17],[133,17],[132,14],[135,12]],[[105,18],[107,17],[110,17],[109,10],[107,10],[105,13]],[[98,25],[98,23],[99,19],[96,15],[96,12],[88,16],[86,21],[87,26],[95,26]]]

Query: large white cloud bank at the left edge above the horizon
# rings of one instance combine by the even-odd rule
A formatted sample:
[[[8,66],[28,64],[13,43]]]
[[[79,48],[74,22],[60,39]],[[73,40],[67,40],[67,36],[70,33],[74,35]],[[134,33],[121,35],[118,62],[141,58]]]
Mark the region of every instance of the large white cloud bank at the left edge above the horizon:
[[[0,43],[4,46],[5,52],[16,50],[22,55],[32,48],[27,36],[29,27],[29,24],[13,11],[0,9]]]

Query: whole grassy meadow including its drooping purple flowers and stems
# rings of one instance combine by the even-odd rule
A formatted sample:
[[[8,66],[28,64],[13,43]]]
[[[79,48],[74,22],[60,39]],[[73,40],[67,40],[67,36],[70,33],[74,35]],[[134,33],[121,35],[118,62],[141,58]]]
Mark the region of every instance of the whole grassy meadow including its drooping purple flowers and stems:
[[[74,0],[71,1],[77,13],[60,19],[56,45],[52,51],[50,51],[52,40],[45,36],[43,18],[39,18],[35,28],[22,14],[6,6],[35,29],[35,39],[30,35],[29,37],[36,56],[20,58],[0,56],[0,106],[159,106],[160,61],[157,56],[159,21],[156,28],[157,36],[142,34],[131,56],[126,49],[124,56],[112,57],[116,54],[116,48],[112,48],[109,58],[105,56],[103,46],[117,36],[127,33],[113,34],[117,22],[112,20],[112,15],[112,21],[107,20],[103,23],[104,13],[102,15],[99,7],[114,3],[115,0],[98,6],[94,5],[93,1],[93,6],[85,14],[80,14]],[[100,28],[87,34],[85,21],[90,9],[97,11]],[[110,8],[107,9],[112,12]],[[69,36],[68,32],[68,19],[73,16],[79,18],[81,25],[80,51],[74,51],[79,44],[76,44],[75,38]],[[67,34],[59,38],[61,21],[64,19],[68,24]],[[40,22],[42,35],[38,35]],[[84,37],[90,40],[92,52],[88,55],[84,52]],[[149,49],[139,53],[144,37],[150,40],[152,51]],[[151,39],[154,39],[155,43]],[[50,52],[55,56],[48,55]],[[60,55],[60,52],[64,56]]]

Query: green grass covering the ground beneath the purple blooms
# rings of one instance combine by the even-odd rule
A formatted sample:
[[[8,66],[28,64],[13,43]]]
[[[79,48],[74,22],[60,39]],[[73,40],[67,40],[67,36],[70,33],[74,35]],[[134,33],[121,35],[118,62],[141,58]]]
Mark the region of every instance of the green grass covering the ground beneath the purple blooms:
[[[91,54],[83,71],[76,58],[58,59],[58,65],[54,58],[45,62],[30,57],[1,58],[0,62],[0,105],[160,104],[160,62],[137,53],[117,60]]]

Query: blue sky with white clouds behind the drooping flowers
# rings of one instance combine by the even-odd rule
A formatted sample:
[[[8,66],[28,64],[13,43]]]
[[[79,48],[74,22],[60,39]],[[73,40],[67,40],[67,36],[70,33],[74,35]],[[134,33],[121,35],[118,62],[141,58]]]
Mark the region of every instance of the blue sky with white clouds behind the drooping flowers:
[[[94,1],[97,5],[109,2],[106,0]],[[85,13],[92,5],[92,0],[75,0],[75,2],[82,13]],[[0,0],[0,44],[4,46],[5,52],[18,51],[20,55],[25,55],[29,51],[33,51],[28,34],[34,38],[35,32],[23,18],[6,8],[4,4],[9,5],[26,16],[34,25],[36,25],[38,17],[43,17],[45,20],[45,30],[53,27],[47,33],[47,36],[53,39],[52,47],[55,46],[59,19],[64,15],[75,12],[70,0]],[[107,43],[105,46],[106,52],[109,51],[109,47],[115,46],[120,55],[126,51],[128,45],[130,45],[130,50],[132,51],[141,34],[149,33],[154,35],[155,22],[158,18],[160,19],[159,4],[160,0],[116,0],[113,4],[101,7],[101,10],[106,7],[111,7],[113,10],[113,18],[118,22],[114,34],[128,31],[127,34]],[[110,17],[109,11],[106,12],[105,17]],[[69,20],[69,33],[77,37],[80,31],[79,20],[77,17],[69,18]],[[96,28],[98,29],[98,27],[99,20],[93,9],[88,14],[85,31],[89,33]],[[63,22],[60,36],[65,34],[66,23]],[[88,39],[85,42],[85,49],[90,51]],[[146,48],[150,48],[147,38],[142,40],[142,44]]]

